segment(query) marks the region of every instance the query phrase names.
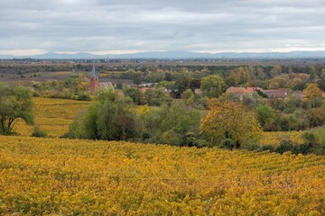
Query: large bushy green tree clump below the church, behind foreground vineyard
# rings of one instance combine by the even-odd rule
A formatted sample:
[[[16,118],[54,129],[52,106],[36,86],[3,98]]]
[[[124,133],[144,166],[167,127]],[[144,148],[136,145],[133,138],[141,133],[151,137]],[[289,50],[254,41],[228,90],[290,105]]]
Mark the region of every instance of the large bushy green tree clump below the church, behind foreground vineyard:
[[[98,102],[70,127],[70,138],[126,140],[137,136],[136,117],[131,98],[113,91],[101,92]]]

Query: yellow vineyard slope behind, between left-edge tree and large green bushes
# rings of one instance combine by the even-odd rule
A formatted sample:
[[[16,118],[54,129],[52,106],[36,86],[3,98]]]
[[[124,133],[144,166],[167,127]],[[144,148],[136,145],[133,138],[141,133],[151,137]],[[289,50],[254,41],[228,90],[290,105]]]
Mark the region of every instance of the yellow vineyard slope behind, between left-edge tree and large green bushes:
[[[70,123],[84,112],[89,102],[64,99],[33,98],[35,123],[41,130],[46,130],[49,137],[57,138],[69,130]],[[32,126],[20,121],[14,128],[21,136],[31,136]]]

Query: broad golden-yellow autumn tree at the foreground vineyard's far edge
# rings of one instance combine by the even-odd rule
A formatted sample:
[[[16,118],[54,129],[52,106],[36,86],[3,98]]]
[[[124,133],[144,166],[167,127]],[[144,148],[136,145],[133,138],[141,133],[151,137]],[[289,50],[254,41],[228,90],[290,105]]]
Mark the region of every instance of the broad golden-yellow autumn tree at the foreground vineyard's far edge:
[[[214,145],[230,143],[236,148],[249,140],[257,139],[262,132],[255,113],[246,110],[241,103],[217,99],[209,101],[209,112],[200,123],[200,134]]]

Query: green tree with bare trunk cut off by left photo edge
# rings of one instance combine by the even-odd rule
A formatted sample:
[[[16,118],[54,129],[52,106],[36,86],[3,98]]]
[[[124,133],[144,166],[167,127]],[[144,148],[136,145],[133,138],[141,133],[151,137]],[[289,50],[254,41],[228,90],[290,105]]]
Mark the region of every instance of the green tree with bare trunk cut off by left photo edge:
[[[7,86],[0,83],[0,133],[14,133],[14,125],[22,119],[26,124],[34,123],[32,91],[23,86]]]

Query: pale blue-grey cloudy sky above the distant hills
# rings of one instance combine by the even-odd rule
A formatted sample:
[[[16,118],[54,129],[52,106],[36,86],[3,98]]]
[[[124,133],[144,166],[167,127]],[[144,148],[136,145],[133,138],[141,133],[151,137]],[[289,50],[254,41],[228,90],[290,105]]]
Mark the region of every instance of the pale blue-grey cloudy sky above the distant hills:
[[[0,54],[325,50],[324,0],[0,0]]]

